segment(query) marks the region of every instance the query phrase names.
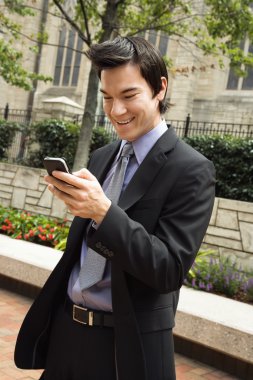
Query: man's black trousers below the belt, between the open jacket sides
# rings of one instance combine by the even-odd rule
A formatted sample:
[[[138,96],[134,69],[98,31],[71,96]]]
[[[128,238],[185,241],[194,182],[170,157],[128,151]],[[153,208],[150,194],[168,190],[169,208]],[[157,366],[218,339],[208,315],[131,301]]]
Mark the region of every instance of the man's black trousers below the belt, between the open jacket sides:
[[[113,328],[87,327],[60,307],[41,380],[116,380],[114,342]]]

